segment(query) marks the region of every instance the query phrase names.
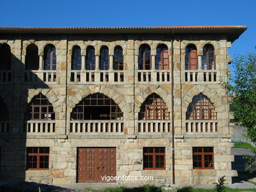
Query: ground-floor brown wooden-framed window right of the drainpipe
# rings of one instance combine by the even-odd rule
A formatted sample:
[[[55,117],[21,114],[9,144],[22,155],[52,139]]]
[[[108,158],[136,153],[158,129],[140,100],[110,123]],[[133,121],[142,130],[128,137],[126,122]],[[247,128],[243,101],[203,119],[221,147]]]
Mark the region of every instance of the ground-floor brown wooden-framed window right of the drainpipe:
[[[193,168],[213,169],[214,153],[213,147],[193,147]]]

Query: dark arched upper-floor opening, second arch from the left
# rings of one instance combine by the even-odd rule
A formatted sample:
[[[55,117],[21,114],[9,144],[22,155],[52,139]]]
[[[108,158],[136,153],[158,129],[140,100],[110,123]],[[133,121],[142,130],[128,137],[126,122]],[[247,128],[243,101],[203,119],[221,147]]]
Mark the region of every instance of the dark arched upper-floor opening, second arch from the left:
[[[26,70],[39,69],[38,47],[35,44],[30,44],[26,48],[25,66]]]

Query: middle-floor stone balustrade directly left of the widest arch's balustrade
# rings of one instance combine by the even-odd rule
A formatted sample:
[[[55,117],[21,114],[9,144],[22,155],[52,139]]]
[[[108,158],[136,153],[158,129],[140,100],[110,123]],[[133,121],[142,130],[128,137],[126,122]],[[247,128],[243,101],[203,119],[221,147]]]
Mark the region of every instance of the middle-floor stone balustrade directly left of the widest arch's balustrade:
[[[55,132],[54,121],[25,121],[23,132],[27,134],[52,134]]]

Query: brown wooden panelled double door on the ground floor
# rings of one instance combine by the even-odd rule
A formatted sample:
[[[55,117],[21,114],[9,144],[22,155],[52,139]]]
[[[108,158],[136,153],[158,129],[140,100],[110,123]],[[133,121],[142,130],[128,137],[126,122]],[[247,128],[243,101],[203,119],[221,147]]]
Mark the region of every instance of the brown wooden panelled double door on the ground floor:
[[[79,148],[78,156],[78,183],[106,182],[102,177],[116,176],[116,148]]]

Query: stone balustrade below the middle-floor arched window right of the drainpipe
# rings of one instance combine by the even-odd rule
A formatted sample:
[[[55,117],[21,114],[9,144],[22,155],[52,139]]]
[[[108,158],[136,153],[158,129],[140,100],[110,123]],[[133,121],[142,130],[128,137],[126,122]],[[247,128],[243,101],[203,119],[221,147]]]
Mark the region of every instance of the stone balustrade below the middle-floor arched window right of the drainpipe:
[[[215,120],[188,120],[186,132],[217,132],[218,123]]]

